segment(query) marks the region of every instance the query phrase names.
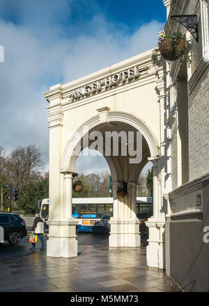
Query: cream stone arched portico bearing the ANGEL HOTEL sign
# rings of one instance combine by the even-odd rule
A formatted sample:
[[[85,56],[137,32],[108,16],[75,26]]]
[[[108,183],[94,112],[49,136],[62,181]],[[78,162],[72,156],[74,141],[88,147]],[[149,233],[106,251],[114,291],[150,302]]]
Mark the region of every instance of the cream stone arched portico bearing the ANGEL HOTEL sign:
[[[160,158],[164,139],[160,125],[164,120],[162,105],[165,101],[163,65],[156,70],[152,52],[148,51],[82,79],[53,86],[45,96],[49,101],[47,256],[77,256],[77,220],[72,218],[71,204],[72,174],[76,172],[75,161],[79,151],[74,154],[74,150],[88,132],[99,130],[104,133],[116,126],[118,131],[139,131],[143,152],[139,165],[130,165],[127,162],[130,156],[123,154],[104,156],[111,170],[114,195],[109,245],[140,245],[135,209],[137,179],[144,164],[151,160],[154,168],[154,215],[147,223],[150,232],[147,264],[161,268],[164,248],[161,207],[162,193],[165,193],[161,182],[162,169],[167,163],[167,156]],[[128,196],[118,198],[121,180],[127,184]]]

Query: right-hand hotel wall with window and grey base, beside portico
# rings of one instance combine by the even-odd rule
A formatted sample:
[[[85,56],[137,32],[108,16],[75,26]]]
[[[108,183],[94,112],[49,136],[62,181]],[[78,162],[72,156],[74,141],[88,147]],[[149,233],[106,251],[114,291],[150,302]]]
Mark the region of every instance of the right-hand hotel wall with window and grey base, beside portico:
[[[171,191],[166,216],[166,271],[185,291],[209,290],[209,24],[207,0],[165,0],[165,33],[187,35],[192,63],[167,63]],[[172,15],[197,15],[199,40]]]

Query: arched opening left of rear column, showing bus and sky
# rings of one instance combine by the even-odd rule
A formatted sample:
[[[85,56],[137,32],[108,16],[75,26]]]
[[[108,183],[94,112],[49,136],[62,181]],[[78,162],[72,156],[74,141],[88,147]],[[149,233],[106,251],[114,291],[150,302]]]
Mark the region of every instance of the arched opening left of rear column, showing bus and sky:
[[[86,147],[77,156],[75,179],[82,184],[82,191],[72,191],[72,217],[78,220],[78,245],[107,245],[109,220],[113,217],[111,172],[104,156]],[[76,182],[76,181],[75,181]]]

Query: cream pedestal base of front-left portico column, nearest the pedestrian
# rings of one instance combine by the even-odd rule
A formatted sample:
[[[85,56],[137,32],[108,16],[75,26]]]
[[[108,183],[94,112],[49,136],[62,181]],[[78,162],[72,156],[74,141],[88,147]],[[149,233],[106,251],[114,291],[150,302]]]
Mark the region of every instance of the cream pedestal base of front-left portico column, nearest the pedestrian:
[[[63,218],[49,220],[49,240],[47,241],[47,256],[49,257],[76,257],[78,220]]]

